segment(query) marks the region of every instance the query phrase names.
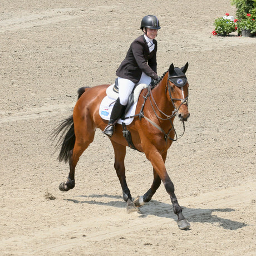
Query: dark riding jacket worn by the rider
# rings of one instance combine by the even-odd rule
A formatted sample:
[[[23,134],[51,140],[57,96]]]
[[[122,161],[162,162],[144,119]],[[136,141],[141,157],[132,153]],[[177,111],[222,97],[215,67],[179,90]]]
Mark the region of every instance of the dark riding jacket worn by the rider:
[[[153,79],[157,79],[156,73],[156,51],[157,41],[153,40],[155,48],[149,52],[149,47],[144,35],[136,38],[127,52],[125,60],[116,71],[116,75],[121,78],[126,78],[134,83],[140,81],[142,72]]]

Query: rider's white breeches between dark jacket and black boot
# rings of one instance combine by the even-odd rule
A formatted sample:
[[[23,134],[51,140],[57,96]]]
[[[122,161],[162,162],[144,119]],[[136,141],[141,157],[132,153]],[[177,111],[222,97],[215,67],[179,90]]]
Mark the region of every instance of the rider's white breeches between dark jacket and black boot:
[[[118,86],[119,86],[120,103],[125,106],[127,105],[128,98],[132,92],[132,89],[135,86],[135,83],[129,79],[125,79],[121,77],[117,77],[117,78],[118,78]],[[137,84],[146,83],[146,85],[149,85],[150,82],[151,82],[151,77],[147,76],[144,72],[142,72],[140,81]]]

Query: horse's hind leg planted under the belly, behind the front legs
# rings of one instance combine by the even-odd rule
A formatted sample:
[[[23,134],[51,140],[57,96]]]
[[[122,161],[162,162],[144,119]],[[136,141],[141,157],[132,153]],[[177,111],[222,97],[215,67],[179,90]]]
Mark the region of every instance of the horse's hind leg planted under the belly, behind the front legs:
[[[126,155],[126,146],[117,144],[115,141],[112,141],[115,152],[115,170],[117,177],[119,178],[121,188],[122,188],[122,197],[127,202],[127,211],[131,212],[136,210],[134,204],[132,203],[131,193],[126,183],[125,177],[125,155]]]

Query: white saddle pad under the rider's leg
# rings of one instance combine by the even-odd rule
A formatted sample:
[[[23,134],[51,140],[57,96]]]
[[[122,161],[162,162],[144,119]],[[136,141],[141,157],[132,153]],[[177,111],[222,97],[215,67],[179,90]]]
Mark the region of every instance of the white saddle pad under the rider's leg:
[[[100,110],[99,110],[99,114],[101,118],[108,121],[110,120],[111,111],[118,97],[118,93],[113,91],[113,87],[114,85],[110,85],[109,87],[107,87],[107,90],[106,90],[107,96],[105,96],[104,99],[101,101]],[[135,88],[134,104],[130,107],[129,111],[126,113],[127,117],[135,115],[135,110],[136,110],[137,102],[140,96],[140,92],[142,89],[146,87],[147,85],[145,83],[141,83]],[[134,120],[134,117],[131,117],[125,120],[119,119],[117,123],[122,124],[122,122],[124,122],[126,125],[130,125],[133,120]]]

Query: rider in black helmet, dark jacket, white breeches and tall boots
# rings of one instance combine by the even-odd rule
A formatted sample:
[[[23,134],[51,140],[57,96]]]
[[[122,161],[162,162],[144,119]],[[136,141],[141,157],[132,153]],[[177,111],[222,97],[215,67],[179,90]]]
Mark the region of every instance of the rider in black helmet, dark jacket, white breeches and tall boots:
[[[142,18],[140,29],[144,35],[136,38],[130,45],[125,60],[116,71],[119,84],[119,98],[113,106],[109,125],[103,131],[112,137],[115,122],[121,117],[125,110],[129,95],[134,86],[139,83],[150,84],[151,79],[157,80],[156,73],[156,51],[157,31],[160,29],[159,20],[156,16],[147,15]]]

